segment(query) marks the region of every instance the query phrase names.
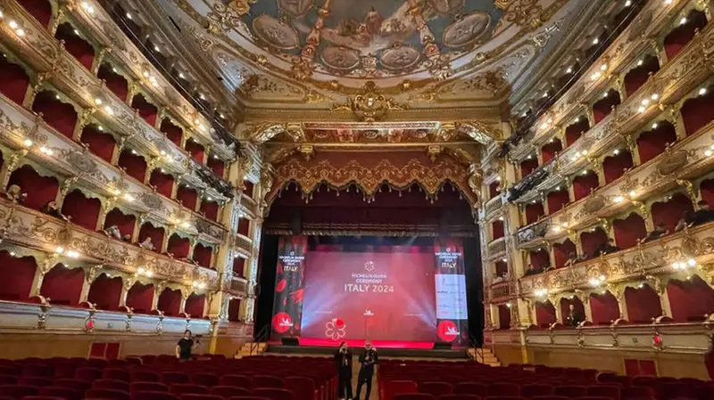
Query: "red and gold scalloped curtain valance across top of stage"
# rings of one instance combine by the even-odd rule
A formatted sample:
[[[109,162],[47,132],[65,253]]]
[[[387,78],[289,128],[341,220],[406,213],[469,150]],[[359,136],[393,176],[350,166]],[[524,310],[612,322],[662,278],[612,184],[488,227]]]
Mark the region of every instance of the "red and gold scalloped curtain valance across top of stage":
[[[287,184],[295,183],[305,198],[310,197],[320,184],[328,184],[340,191],[357,185],[370,201],[383,184],[395,190],[407,190],[419,184],[428,197],[438,197],[444,184],[459,189],[471,208],[478,206],[478,194],[472,190],[473,179],[480,179],[477,171],[449,156],[432,161],[421,151],[320,152],[309,161],[292,156],[274,168],[270,192],[265,199],[270,206]],[[478,187],[476,185],[475,187]]]

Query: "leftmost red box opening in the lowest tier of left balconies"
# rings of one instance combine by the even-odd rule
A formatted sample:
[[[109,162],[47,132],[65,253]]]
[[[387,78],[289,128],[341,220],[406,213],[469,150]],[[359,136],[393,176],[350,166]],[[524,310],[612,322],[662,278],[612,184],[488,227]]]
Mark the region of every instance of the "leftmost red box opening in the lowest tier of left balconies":
[[[35,279],[37,263],[33,257],[15,257],[14,253],[0,251],[0,300],[27,301]]]

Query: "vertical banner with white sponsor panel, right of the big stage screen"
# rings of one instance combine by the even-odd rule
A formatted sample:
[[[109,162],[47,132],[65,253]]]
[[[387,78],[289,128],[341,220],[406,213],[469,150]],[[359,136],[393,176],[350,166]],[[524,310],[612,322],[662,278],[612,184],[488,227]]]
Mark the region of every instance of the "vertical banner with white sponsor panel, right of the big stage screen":
[[[469,313],[463,243],[445,238],[434,241],[436,257],[436,332],[439,340],[457,346],[469,344]]]

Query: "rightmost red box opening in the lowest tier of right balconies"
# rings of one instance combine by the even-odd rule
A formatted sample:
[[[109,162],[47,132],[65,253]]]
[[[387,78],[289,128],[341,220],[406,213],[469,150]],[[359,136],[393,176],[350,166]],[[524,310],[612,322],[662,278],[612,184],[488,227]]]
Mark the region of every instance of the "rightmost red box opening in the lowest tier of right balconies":
[[[704,321],[714,313],[714,290],[697,275],[667,283],[669,307],[676,322]]]

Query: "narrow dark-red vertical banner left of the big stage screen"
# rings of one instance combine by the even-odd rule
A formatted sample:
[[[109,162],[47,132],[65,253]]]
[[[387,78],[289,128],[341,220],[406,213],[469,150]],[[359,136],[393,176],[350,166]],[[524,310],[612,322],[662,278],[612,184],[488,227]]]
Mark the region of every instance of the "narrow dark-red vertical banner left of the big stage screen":
[[[300,337],[307,236],[283,236],[278,242],[272,338]]]

